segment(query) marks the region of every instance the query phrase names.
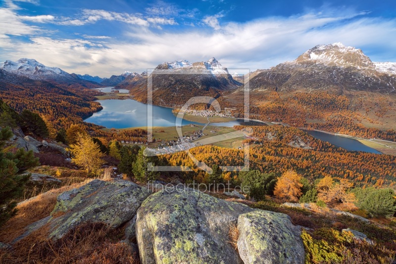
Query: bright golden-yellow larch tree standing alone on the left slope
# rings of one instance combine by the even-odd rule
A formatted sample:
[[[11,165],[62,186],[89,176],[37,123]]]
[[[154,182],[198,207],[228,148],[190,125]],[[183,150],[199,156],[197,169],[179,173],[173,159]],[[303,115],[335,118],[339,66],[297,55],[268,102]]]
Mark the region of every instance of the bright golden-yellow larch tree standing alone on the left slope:
[[[84,168],[88,174],[98,174],[104,164],[104,154],[100,152],[99,145],[86,133],[78,132],[76,143],[71,144],[67,150],[72,154],[72,162]]]

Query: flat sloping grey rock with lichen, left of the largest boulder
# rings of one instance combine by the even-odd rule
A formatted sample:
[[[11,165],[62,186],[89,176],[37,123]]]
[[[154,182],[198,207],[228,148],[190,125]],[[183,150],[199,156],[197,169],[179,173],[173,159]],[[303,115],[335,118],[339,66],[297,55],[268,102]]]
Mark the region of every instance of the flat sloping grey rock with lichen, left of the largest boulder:
[[[99,179],[63,192],[58,195],[55,208],[46,221],[49,238],[59,239],[70,229],[88,221],[117,228],[136,215],[149,194],[147,188],[131,181]]]

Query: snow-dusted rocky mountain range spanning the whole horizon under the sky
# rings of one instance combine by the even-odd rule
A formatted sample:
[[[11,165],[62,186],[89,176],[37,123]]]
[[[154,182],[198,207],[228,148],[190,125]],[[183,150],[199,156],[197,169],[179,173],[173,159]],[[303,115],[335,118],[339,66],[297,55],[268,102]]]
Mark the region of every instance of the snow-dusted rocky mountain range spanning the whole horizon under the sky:
[[[88,74],[69,74],[57,67],[45,66],[34,59],[22,58],[17,61],[6,60],[0,69],[32,80],[58,83],[87,83],[102,86],[120,86],[138,92],[146,88],[147,73],[125,71],[110,78],[100,78]],[[175,70],[176,75],[168,78],[155,75],[155,88],[170,88],[178,84],[180,88],[199,88],[202,90],[230,90],[241,87],[244,78],[238,73],[232,75],[214,57],[206,62],[175,60],[159,64],[155,70]],[[200,71],[201,74],[187,75],[184,70]],[[187,71],[186,71],[187,72]],[[155,73],[155,71],[154,71]],[[294,61],[281,63],[267,70],[257,70],[249,74],[252,90],[289,90],[289,89],[351,89],[395,93],[396,63],[372,62],[360,49],[341,43],[317,45]],[[179,90],[182,92],[183,88]],[[139,92],[138,92],[139,93]]]

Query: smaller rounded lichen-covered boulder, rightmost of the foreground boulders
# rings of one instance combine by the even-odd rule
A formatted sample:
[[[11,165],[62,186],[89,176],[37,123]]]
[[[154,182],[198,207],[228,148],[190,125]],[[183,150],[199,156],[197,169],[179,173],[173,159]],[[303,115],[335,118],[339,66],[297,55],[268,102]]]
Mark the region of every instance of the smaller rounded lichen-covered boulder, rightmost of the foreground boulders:
[[[303,264],[300,228],[285,214],[257,210],[239,216],[238,251],[245,264]]]

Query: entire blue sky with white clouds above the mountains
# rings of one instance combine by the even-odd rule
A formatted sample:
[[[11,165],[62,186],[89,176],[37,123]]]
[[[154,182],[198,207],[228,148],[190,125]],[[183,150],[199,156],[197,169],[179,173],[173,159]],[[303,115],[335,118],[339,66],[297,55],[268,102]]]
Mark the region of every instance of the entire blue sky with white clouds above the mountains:
[[[0,61],[100,77],[213,56],[254,71],[336,42],[396,61],[396,1],[0,0]]]

